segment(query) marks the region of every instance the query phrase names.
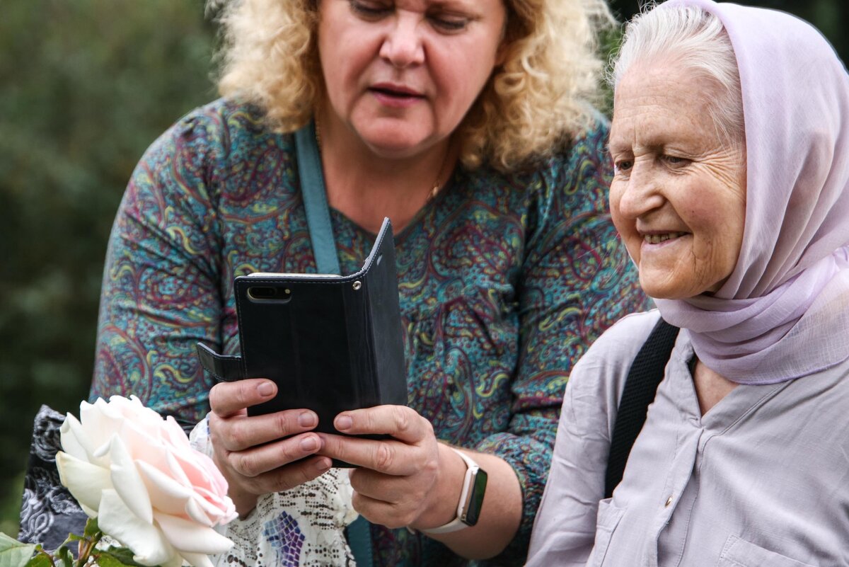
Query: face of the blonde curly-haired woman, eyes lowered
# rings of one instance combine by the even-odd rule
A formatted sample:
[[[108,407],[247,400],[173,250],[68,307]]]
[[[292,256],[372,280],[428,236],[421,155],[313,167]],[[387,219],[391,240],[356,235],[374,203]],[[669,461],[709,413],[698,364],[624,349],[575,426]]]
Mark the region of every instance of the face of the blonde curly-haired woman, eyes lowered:
[[[330,119],[376,154],[447,140],[498,63],[502,0],[320,0]]]

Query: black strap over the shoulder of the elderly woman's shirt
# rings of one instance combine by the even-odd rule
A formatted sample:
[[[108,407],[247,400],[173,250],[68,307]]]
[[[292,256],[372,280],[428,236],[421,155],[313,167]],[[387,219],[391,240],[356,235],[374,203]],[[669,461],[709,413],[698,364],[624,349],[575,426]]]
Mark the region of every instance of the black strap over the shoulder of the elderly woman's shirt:
[[[613,489],[622,480],[625,463],[631,447],[643,429],[649,404],[655,399],[657,386],[663,379],[663,371],[672,347],[678,337],[678,327],[663,319],[657,322],[649,338],[640,348],[625,380],[625,388],[616,413],[613,438],[610,440],[610,457],[607,459],[607,474],[604,476],[604,497],[610,498]]]

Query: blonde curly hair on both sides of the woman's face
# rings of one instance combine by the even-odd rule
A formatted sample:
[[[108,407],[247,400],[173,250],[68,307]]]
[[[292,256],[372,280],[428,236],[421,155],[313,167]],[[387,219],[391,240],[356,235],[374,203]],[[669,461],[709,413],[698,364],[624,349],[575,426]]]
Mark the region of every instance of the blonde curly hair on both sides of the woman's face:
[[[512,171],[552,154],[593,121],[604,0],[503,0],[505,59],[458,126],[460,160]],[[323,93],[317,0],[210,0],[220,9],[218,88],[256,104],[278,132],[310,120]]]

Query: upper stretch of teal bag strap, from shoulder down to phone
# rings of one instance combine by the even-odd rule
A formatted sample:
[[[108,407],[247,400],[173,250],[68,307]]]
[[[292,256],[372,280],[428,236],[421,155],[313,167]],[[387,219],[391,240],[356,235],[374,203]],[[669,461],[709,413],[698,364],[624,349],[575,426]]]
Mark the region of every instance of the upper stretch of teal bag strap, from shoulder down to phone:
[[[301,177],[301,196],[306,209],[306,226],[309,227],[312,255],[315,256],[318,273],[342,275],[336,241],[330,225],[330,208],[321,171],[321,155],[318,154],[315,123],[295,132],[295,149],[298,154],[298,172]]]

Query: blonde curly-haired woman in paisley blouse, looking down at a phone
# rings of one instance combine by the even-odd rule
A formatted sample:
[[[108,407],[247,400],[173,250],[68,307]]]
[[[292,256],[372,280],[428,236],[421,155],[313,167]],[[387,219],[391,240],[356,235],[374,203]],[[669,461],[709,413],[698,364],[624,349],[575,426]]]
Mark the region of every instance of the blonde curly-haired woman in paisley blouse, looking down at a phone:
[[[373,522],[376,564],[524,560],[572,362],[644,303],[606,213],[608,132],[587,102],[609,19],[602,0],[225,5],[225,97],[149,149],[118,212],[92,396],[134,393],[184,424],[211,407],[239,542],[260,541],[233,562],[289,564],[302,548],[346,559],[332,533],[303,539],[339,523],[301,509],[333,500],[332,486],[281,496],[328,478],[331,458],[360,467],[353,506]],[[248,417],[287,392],[267,379],[213,388],[194,356],[198,341],[239,352],[235,276],[316,271],[303,128],[341,272],[363,265],[384,216],[396,231],[409,407],[335,420],[385,441],[319,435],[310,408]],[[469,485],[478,467],[486,487]]]

